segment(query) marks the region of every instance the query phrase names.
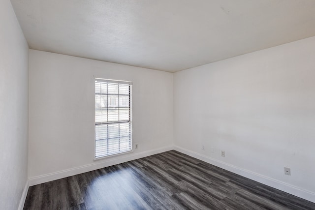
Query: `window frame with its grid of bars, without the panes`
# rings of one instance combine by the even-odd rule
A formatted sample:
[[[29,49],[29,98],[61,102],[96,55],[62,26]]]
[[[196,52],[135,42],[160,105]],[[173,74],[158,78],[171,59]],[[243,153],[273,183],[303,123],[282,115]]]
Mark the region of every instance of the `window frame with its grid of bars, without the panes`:
[[[125,154],[125,153],[128,153],[128,152],[132,152],[133,151],[133,145],[132,145],[132,82],[130,81],[123,81],[123,80],[112,80],[112,79],[102,79],[102,78],[95,78],[95,82],[94,82],[94,86],[96,87],[96,83],[104,83],[106,84],[106,94],[103,94],[101,92],[98,92],[96,93],[96,89],[94,90],[94,95],[95,95],[95,104],[94,104],[94,107],[95,107],[95,111],[94,111],[94,114],[95,114],[95,138],[94,138],[94,160],[99,160],[99,159],[103,159],[103,158],[107,158],[107,157],[112,157],[112,156],[115,156],[115,155],[120,155],[120,154]],[[115,93],[108,93],[108,84],[117,84],[118,85],[118,93],[115,94]],[[129,94],[120,94],[119,92],[119,89],[120,89],[120,85],[128,85],[128,88],[129,88]],[[107,99],[106,99],[106,115],[103,115],[103,116],[106,116],[107,120],[106,121],[102,121],[102,122],[96,122],[96,110],[97,110],[97,107],[96,107],[96,95],[99,95],[99,97],[101,95],[107,95]],[[116,120],[116,121],[108,121],[108,116],[109,116],[109,113],[108,113],[108,110],[109,110],[109,101],[108,101],[108,95],[115,95],[118,97],[118,107],[117,106],[114,106],[114,110],[117,110],[118,112],[120,111],[120,108],[128,108],[128,111],[129,111],[129,120]],[[129,98],[129,106],[128,107],[120,107],[120,96],[128,96]],[[98,108],[98,110],[102,110],[103,108],[100,107]],[[118,114],[118,118],[120,117],[120,115]],[[107,138],[103,138],[103,139],[96,139],[97,138],[97,131],[96,131],[96,127],[97,125],[106,125],[107,126],[107,132],[108,132],[108,127],[109,127],[109,124],[117,124],[118,125],[118,136],[116,138],[118,138],[119,140],[119,145],[118,145],[118,150],[121,150],[121,146],[120,146],[120,138],[123,138],[124,136],[121,136],[120,135],[120,132],[121,132],[121,123],[129,123],[127,126],[129,127],[128,129],[128,132],[127,132],[127,138],[129,138],[129,141],[128,144],[129,146],[127,146],[127,150],[123,150],[123,151],[118,151],[118,152],[108,152],[108,146],[107,146],[107,154],[102,154],[102,155],[98,155],[96,156],[97,152],[96,152],[96,142],[97,141],[102,141],[102,140],[105,140],[107,141],[107,145],[108,145],[108,141],[110,139],[112,139],[113,137],[109,138],[109,134],[107,133]],[[126,143],[126,142],[125,142]],[[128,148],[129,147],[129,148]],[[123,147],[124,148],[124,147]],[[103,152],[103,151],[102,151]]]

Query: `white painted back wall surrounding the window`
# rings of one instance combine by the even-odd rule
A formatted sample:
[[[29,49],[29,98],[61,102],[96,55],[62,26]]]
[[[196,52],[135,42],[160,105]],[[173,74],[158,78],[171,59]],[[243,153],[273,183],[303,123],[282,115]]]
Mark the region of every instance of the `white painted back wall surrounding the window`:
[[[30,179],[95,163],[95,77],[133,82],[139,148],[122,157],[173,145],[172,73],[30,50]]]

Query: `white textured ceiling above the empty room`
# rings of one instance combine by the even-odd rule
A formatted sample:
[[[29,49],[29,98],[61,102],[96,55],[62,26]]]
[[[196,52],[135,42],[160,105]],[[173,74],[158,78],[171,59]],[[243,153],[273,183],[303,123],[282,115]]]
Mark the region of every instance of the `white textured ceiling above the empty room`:
[[[315,36],[315,0],[11,0],[31,49],[175,72]]]

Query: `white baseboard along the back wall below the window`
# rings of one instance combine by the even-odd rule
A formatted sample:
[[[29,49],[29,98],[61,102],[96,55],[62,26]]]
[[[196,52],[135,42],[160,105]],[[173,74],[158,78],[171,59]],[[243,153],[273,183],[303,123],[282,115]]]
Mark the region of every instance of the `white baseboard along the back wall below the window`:
[[[59,179],[65,178],[65,177],[70,177],[70,176],[74,176],[77,174],[82,174],[85,172],[94,171],[94,170],[97,170],[100,168],[124,163],[124,162],[130,161],[130,160],[135,160],[135,159],[139,159],[142,157],[147,157],[147,156],[150,156],[153,154],[158,154],[158,153],[161,153],[164,151],[169,151],[169,150],[174,150],[174,146],[167,146],[167,147],[159,148],[156,150],[148,150],[148,151],[143,151],[143,152],[139,152],[139,153],[133,153],[132,152],[127,156],[117,155],[115,158],[111,158],[107,161],[106,161],[106,159],[103,159],[103,160],[95,161],[95,163],[93,163],[93,164],[80,166],[80,167],[76,167],[76,168],[71,168],[71,169],[67,169],[67,170],[63,170],[63,171],[59,171],[59,172],[55,172],[55,173],[51,173],[51,174],[46,174],[46,175],[42,175],[42,176],[38,176],[38,177],[33,177],[33,178],[29,179],[29,186],[45,183],[48,181],[59,180]]]

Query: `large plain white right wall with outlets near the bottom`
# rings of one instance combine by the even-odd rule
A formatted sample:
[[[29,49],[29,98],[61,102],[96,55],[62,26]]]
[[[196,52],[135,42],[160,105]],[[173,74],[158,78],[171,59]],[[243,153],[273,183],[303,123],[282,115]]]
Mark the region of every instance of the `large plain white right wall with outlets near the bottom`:
[[[315,37],[175,73],[174,136],[180,150],[315,202]]]

